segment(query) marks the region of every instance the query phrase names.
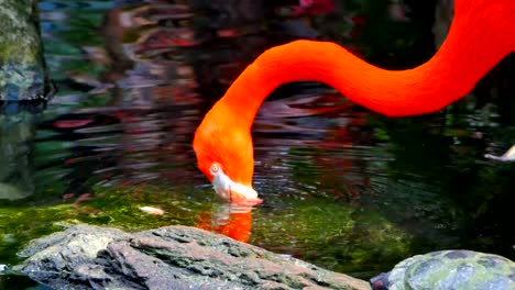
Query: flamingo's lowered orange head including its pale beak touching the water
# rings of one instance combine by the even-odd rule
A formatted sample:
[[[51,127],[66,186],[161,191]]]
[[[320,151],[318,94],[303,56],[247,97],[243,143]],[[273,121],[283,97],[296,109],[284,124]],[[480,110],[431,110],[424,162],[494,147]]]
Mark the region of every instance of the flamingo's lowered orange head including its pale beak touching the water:
[[[215,191],[239,205],[261,203],[252,188],[254,157],[250,130],[228,121],[220,110],[211,110],[195,132],[194,149],[198,168]]]

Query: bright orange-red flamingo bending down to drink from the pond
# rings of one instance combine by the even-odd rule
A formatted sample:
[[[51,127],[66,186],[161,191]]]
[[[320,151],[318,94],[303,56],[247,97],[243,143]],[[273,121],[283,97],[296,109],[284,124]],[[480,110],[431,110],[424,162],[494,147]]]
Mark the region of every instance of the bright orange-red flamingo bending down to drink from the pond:
[[[259,204],[251,126],[280,85],[319,81],[387,116],[426,114],[463,98],[513,52],[515,0],[456,0],[448,37],[431,59],[413,69],[377,68],[330,42],[273,47],[244,69],[198,126],[193,142],[198,167],[229,202]]]

